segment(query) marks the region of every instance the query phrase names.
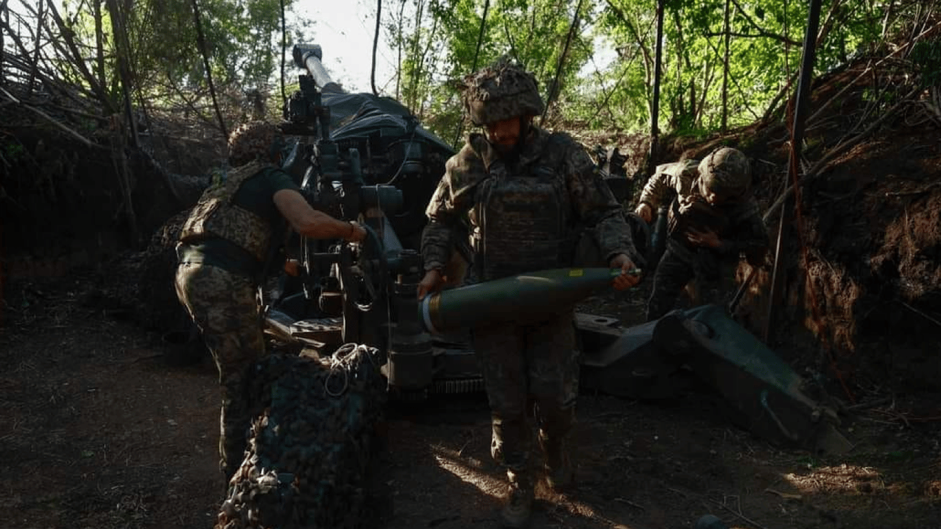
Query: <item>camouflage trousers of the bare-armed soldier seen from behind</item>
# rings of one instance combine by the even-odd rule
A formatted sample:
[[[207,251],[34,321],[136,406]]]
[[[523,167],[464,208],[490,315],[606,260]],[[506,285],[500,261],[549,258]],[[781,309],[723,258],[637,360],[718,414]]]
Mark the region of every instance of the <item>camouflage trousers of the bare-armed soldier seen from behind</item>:
[[[180,264],[175,282],[177,297],[202,331],[219,372],[219,467],[230,479],[242,463],[254,415],[250,370],[265,354],[255,285],[205,264]]]

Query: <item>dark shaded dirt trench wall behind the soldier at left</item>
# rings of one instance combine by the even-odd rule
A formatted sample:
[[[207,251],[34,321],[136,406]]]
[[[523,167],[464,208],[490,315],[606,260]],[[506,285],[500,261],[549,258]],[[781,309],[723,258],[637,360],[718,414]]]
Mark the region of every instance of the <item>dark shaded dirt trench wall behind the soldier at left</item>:
[[[62,276],[146,248],[208,182],[168,173],[148,152],[115,149],[106,131],[89,135],[91,146],[34,126],[8,133],[0,143],[0,258],[10,278]]]

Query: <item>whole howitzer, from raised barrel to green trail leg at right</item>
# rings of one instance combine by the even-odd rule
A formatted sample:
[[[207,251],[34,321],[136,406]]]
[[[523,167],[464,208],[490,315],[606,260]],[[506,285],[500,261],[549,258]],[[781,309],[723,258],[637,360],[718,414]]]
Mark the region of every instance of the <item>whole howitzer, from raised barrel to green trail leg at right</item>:
[[[306,73],[285,104],[284,132],[298,139],[284,168],[301,178],[314,207],[358,220],[368,237],[359,244],[299,239],[289,245],[303,273],[281,278],[271,292],[266,331],[326,354],[349,343],[375,347],[384,357],[389,393],[399,397],[481,391],[461,314],[471,305],[478,311],[482,298],[485,306],[515,298],[514,311],[535,311],[539,303],[528,302],[538,299],[534,289],[569,288],[566,272],[459,287],[434,301],[451,304],[436,305],[435,317],[446,314],[456,324],[428,325],[435,319],[432,300],[416,299],[424,208],[454,149],[404,105],[344,91],[327,75],[320,46],[295,45],[293,56]],[[643,251],[649,230],[638,218],[629,220]],[[466,305],[468,300],[473,303]],[[735,423],[770,441],[849,448],[837,430],[837,406],[820,385],[797,376],[718,307],[674,312],[627,329],[614,318],[579,313],[576,327],[582,389],[656,399],[705,383],[721,395]]]

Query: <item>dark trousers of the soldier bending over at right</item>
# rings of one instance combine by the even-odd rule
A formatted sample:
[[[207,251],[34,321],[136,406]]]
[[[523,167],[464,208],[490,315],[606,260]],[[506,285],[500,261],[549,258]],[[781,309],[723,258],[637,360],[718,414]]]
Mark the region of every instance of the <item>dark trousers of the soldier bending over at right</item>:
[[[663,314],[679,308],[680,295],[687,285],[692,290],[690,301],[694,305],[722,305],[731,287],[726,283],[732,280],[732,270],[727,263],[718,261],[705,251],[696,254],[686,248],[678,248],[676,243],[669,241],[653,275],[653,286],[647,299],[646,321],[659,319]]]

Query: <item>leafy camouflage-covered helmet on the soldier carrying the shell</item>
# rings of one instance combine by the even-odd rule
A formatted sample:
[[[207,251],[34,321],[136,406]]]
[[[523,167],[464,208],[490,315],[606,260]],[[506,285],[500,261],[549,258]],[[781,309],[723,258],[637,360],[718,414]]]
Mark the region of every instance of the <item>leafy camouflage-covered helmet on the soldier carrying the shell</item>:
[[[544,105],[532,73],[501,58],[464,77],[464,108],[475,125],[518,116],[538,116]]]

